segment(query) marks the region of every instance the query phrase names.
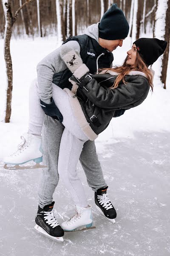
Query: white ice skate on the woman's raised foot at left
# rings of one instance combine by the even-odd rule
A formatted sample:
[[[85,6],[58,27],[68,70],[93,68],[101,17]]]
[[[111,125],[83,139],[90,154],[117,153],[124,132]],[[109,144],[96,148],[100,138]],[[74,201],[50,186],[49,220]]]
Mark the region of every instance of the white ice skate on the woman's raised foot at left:
[[[25,137],[21,136],[21,139],[23,142],[17,146],[17,151],[8,157],[4,157],[4,168],[34,169],[46,167],[40,165],[42,162],[41,136],[26,134]],[[36,163],[34,166],[19,166],[20,164],[27,163],[31,160]],[[7,164],[14,166],[7,166]]]

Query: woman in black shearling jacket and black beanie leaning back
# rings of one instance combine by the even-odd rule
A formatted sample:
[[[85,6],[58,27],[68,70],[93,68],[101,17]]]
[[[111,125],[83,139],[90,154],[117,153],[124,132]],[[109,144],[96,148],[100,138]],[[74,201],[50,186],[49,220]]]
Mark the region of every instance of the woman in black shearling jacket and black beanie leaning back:
[[[127,52],[122,67],[106,69],[94,76],[89,74],[76,52],[63,55],[68,67],[77,67],[70,78],[73,84],[71,91],[53,86],[53,100],[62,113],[65,126],[60,142],[58,172],[76,205],[76,215],[61,224],[64,230],[92,225],[91,206],[76,172],[83,144],[87,140],[95,140],[117,113],[124,113],[144,101],[150,87],[153,90],[153,71],[148,66],[163,54],[166,46],[166,41],[140,38]],[[45,108],[44,102],[41,105]],[[71,148],[69,143],[73,140],[75,146]],[[107,198],[104,204],[107,209],[113,207]],[[50,215],[48,211],[45,214]]]

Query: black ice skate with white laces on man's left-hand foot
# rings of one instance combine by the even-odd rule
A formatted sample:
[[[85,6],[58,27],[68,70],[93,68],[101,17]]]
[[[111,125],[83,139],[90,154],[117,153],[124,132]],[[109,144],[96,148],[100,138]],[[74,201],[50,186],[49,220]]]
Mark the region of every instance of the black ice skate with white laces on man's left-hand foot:
[[[63,242],[64,230],[59,226],[57,219],[54,216],[52,202],[49,205],[45,205],[42,209],[38,206],[37,216],[35,217],[35,229],[41,232],[43,235],[48,236],[58,242]]]

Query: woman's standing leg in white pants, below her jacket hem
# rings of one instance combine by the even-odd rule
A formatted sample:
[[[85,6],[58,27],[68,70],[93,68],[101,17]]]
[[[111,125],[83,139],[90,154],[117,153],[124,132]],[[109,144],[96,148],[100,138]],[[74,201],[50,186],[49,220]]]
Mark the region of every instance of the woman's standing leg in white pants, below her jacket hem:
[[[85,141],[79,140],[67,128],[64,129],[59,146],[58,173],[66,189],[71,193],[74,203],[87,207],[88,202],[76,166]]]

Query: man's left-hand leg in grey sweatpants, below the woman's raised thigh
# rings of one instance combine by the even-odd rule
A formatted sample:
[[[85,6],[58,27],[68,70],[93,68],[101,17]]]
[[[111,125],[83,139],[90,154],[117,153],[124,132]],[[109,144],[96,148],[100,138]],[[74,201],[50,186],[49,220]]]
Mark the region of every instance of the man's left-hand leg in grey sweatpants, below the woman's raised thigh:
[[[38,201],[41,208],[52,203],[53,194],[59,181],[57,165],[63,130],[64,126],[59,121],[45,115],[42,127],[42,150],[43,163],[47,168],[42,169],[38,189]]]

